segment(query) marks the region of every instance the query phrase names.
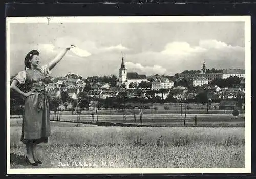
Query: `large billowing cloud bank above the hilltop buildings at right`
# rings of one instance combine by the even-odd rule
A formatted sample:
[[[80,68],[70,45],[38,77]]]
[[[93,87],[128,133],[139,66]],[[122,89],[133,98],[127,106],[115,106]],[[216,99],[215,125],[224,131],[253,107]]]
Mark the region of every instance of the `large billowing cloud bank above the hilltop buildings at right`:
[[[203,61],[206,68],[244,68],[244,48],[231,46],[217,40],[201,40],[192,46],[187,42],[169,42],[162,51],[147,51],[127,55],[133,63],[143,63],[143,66],[163,66],[166,71],[159,73],[173,75],[184,70],[200,70]],[[129,71],[129,69],[128,69]]]

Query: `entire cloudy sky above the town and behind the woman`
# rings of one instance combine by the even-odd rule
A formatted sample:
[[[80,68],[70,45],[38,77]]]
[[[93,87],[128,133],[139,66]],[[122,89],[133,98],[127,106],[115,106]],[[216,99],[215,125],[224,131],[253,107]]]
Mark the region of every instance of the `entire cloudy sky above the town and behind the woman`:
[[[24,69],[30,50],[44,65],[69,44],[91,56],[69,51],[52,76],[118,75],[122,52],[128,72],[146,75],[199,70],[203,61],[209,69],[245,68],[243,22],[11,23],[11,75]]]

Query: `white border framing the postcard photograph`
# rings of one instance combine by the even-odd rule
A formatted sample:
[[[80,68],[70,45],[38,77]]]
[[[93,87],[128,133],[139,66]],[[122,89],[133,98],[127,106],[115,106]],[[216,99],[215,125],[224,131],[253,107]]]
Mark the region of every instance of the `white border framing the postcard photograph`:
[[[245,23],[245,168],[10,168],[10,23],[142,23],[142,22]],[[147,173],[250,173],[251,172],[251,21],[250,16],[130,16],[130,17],[7,17],[6,18],[6,142],[7,174],[147,174]]]

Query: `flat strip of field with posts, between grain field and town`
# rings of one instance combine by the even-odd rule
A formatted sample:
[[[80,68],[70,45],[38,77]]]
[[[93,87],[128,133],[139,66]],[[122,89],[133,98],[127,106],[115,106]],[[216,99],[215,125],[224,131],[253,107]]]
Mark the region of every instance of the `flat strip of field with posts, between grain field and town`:
[[[95,114],[95,111],[94,111]],[[131,111],[126,111],[125,121],[123,120],[123,111],[97,111],[99,122],[111,122],[111,123],[126,123],[126,124],[140,124],[140,114],[136,113],[136,121],[134,114]],[[195,115],[197,115],[198,127],[244,127],[245,117],[244,114],[240,114],[238,118],[234,117],[230,113],[226,114],[207,114],[207,113],[189,113],[186,114],[187,126],[195,126]],[[143,125],[160,126],[160,127],[183,127],[184,126],[184,113],[173,114],[152,114],[143,113],[141,116]],[[95,120],[94,115],[94,120]],[[153,120],[152,120],[153,118]],[[53,119],[53,115],[51,116]],[[77,121],[76,115],[71,115],[71,111],[60,112],[61,121]],[[92,111],[83,111],[80,115],[81,122],[92,122]]]

